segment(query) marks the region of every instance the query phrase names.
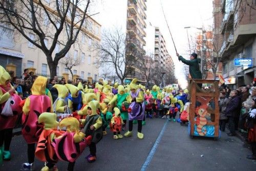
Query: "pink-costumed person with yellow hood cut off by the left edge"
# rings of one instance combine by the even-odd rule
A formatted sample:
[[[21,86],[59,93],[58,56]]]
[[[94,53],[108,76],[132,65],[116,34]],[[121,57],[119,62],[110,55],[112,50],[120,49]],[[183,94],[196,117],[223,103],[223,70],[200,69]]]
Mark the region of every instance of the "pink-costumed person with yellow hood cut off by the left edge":
[[[10,79],[9,73],[0,66],[0,158],[4,160],[11,160],[12,130],[18,115],[22,114],[22,99],[16,94]]]

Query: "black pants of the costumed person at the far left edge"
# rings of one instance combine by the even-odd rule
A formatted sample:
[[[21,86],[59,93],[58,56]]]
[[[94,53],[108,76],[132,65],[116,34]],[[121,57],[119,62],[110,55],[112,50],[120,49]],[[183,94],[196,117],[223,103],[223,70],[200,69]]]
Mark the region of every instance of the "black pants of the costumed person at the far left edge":
[[[10,150],[10,145],[12,141],[12,130],[13,129],[4,129],[0,131],[0,146],[5,144],[5,151]]]

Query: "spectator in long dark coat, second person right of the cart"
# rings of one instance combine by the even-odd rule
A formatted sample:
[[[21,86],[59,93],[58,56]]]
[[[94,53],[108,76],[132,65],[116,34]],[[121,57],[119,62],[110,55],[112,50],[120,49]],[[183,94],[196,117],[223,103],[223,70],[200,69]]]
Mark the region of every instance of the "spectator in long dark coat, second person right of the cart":
[[[235,119],[238,117],[240,113],[240,97],[238,96],[237,90],[232,90],[230,92],[230,100],[227,103],[227,108],[225,111],[225,116],[228,117],[229,123],[229,133],[228,136],[234,136],[235,133]]]

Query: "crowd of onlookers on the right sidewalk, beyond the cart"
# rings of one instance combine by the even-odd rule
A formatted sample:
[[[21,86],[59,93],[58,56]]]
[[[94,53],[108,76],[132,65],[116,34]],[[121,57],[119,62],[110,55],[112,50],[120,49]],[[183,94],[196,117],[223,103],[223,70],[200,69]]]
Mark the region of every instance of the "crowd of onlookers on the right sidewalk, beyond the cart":
[[[235,136],[239,131],[251,144],[252,155],[249,159],[256,159],[256,83],[242,85],[237,90],[221,87],[220,92],[220,130],[225,131],[228,123],[228,136]]]

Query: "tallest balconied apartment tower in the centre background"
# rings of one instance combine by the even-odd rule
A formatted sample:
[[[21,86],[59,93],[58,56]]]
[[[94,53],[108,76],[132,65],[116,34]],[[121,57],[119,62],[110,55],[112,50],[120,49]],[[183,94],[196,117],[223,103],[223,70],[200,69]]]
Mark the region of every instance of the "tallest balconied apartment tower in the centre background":
[[[126,36],[129,36],[133,46],[140,51],[141,61],[143,60],[145,50],[143,47],[146,45],[144,37],[146,37],[146,0],[127,0],[127,21],[126,21]],[[136,57],[137,58],[137,57]],[[143,72],[140,70],[142,62],[138,60],[135,66],[129,71],[126,77],[126,82],[133,78],[137,78],[138,82],[145,83]]]

